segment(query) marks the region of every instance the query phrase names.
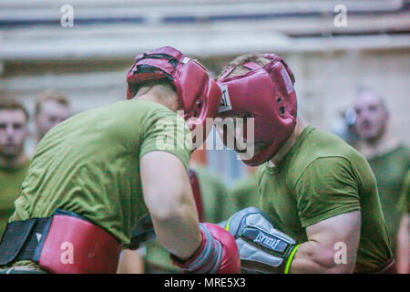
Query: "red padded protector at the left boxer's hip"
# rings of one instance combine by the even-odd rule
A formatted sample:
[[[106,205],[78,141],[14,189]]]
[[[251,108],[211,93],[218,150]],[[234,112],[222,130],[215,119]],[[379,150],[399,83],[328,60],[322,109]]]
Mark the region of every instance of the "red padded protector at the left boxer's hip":
[[[120,242],[103,228],[65,214],[54,215],[39,257],[56,274],[115,274]]]

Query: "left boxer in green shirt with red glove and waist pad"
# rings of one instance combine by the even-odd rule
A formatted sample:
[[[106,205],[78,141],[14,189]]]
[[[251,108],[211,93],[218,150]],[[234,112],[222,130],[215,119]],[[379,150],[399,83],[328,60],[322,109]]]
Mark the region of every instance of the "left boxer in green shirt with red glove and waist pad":
[[[0,265],[13,265],[5,273],[33,263],[51,273],[115,273],[121,245],[148,213],[184,271],[239,271],[233,237],[199,224],[188,175],[188,125],[214,116],[218,86],[172,47],[138,55],[127,80],[128,100],[77,114],[38,144],[0,245]]]

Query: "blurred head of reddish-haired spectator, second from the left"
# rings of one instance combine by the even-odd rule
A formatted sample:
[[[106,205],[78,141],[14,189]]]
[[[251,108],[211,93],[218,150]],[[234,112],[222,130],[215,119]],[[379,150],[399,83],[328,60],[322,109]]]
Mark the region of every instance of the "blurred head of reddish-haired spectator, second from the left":
[[[35,123],[37,142],[46,132],[71,116],[68,99],[63,94],[47,89],[36,99]]]

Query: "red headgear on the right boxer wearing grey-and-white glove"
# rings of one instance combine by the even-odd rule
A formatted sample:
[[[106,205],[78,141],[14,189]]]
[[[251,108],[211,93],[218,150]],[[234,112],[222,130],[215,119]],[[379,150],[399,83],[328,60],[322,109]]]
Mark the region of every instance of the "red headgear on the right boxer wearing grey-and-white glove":
[[[282,57],[273,54],[263,57],[271,62],[264,66],[245,63],[242,67],[250,71],[231,78],[228,76],[234,68],[228,68],[217,81],[223,95],[219,116],[222,119],[236,115],[254,118],[254,142],[260,143],[262,149],[251,159],[243,160],[251,166],[269,161],[296,125],[293,73]]]

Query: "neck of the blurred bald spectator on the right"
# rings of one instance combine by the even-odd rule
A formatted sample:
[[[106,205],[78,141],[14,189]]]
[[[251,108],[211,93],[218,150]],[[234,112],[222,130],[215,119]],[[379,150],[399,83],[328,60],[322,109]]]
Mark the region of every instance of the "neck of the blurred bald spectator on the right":
[[[374,156],[383,155],[395,150],[398,145],[399,141],[386,130],[375,139],[360,140],[357,144],[357,149],[366,159],[371,159]]]

